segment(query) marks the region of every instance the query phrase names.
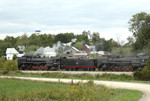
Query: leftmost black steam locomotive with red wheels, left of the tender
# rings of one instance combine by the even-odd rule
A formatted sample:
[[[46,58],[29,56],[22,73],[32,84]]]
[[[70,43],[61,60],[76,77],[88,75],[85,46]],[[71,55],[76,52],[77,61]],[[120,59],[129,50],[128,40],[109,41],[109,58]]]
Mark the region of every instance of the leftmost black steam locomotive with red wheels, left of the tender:
[[[18,58],[19,70],[58,70],[58,58],[23,56]]]

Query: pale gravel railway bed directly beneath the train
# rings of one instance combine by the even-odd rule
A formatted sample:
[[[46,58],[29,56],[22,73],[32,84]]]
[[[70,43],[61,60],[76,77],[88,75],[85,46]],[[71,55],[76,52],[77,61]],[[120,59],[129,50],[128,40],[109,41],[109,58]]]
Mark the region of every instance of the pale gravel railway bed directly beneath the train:
[[[126,75],[132,75],[133,72],[102,72],[102,71],[21,71],[24,73],[64,73],[64,74],[90,74],[90,75],[102,75],[104,73],[107,74],[126,74]]]

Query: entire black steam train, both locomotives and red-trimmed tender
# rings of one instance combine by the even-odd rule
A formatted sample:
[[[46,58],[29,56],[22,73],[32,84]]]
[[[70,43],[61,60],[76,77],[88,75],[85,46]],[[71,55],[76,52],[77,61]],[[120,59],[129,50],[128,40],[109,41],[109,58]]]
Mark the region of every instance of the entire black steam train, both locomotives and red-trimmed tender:
[[[66,57],[41,58],[23,56],[18,58],[19,70],[66,70],[66,71],[135,71],[142,70],[149,56],[122,57],[104,55],[98,59],[69,59]]]

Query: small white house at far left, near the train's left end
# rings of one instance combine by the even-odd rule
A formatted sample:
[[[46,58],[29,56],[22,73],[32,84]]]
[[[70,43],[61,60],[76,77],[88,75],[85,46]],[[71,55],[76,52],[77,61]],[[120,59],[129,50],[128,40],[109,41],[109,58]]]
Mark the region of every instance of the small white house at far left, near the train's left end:
[[[14,55],[18,55],[19,52],[15,48],[7,48],[6,50],[6,58],[7,60],[13,60]]]

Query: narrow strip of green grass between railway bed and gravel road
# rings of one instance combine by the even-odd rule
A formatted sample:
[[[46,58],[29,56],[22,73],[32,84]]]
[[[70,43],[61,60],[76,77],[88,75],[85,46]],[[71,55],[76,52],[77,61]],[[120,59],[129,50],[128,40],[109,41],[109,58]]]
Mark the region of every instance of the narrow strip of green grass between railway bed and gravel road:
[[[81,80],[109,80],[109,81],[124,81],[124,82],[140,82],[140,83],[150,83],[150,81],[139,81],[135,80],[133,76],[120,74],[103,74],[103,75],[89,75],[89,74],[62,74],[62,73],[22,73],[20,71],[5,71],[0,72],[0,75],[8,76],[25,76],[25,77],[41,77],[41,78],[67,78],[67,79],[81,79]]]

